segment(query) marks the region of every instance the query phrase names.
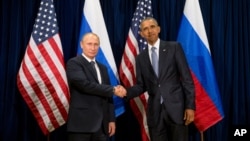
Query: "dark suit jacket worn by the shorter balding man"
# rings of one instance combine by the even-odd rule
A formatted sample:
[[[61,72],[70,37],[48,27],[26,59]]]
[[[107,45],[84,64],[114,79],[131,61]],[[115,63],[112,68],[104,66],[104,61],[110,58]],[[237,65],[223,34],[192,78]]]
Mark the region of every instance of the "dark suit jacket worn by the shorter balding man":
[[[66,73],[70,87],[70,106],[67,121],[68,132],[96,132],[104,125],[115,121],[113,87],[107,69],[97,62],[102,84],[93,74],[91,64],[79,55],[67,62]]]

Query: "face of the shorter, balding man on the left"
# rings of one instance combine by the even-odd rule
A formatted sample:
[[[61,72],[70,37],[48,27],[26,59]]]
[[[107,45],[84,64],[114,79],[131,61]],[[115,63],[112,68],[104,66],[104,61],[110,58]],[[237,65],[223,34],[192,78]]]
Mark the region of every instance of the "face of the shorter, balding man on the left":
[[[93,34],[86,35],[81,41],[82,51],[90,59],[98,53],[99,45],[99,38]]]

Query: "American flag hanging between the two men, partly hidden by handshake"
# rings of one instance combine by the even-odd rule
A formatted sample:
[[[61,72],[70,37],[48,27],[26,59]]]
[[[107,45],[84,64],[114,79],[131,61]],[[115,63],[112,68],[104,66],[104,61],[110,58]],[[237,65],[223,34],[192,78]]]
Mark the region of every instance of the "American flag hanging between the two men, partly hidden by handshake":
[[[144,18],[152,17],[152,13],[151,0],[138,1],[119,68],[120,78],[124,86],[130,87],[136,83],[135,57],[147,47],[147,42],[139,35],[139,25]],[[130,100],[130,106],[141,127],[143,141],[150,140],[146,121],[147,98],[147,93],[144,93]]]

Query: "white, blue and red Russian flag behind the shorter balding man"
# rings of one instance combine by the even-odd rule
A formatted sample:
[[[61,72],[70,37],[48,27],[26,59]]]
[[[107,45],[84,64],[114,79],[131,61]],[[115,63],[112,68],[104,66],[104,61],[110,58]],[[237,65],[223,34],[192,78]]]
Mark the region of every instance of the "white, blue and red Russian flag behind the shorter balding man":
[[[99,0],[85,0],[83,7],[81,31],[79,34],[79,44],[77,53],[81,54],[80,47],[81,37],[87,32],[94,32],[100,38],[100,48],[96,56],[96,60],[106,65],[111,81],[111,85],[116,86],[119,84],[119,76],[109,42],[108,32],[103,19],[103,14]],[[117,96],[113,96],[115,104],[116,117],[124,113],[123,100]]]

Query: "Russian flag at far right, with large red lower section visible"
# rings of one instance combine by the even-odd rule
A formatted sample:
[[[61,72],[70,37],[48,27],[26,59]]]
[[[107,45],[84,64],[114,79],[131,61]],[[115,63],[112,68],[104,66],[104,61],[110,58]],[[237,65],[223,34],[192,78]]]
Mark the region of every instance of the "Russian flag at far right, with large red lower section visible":
[[[177,41],[184,49],[194,80],[194,124],[202,132],[222,120],[224,112],[198,0],[186,0]]]

